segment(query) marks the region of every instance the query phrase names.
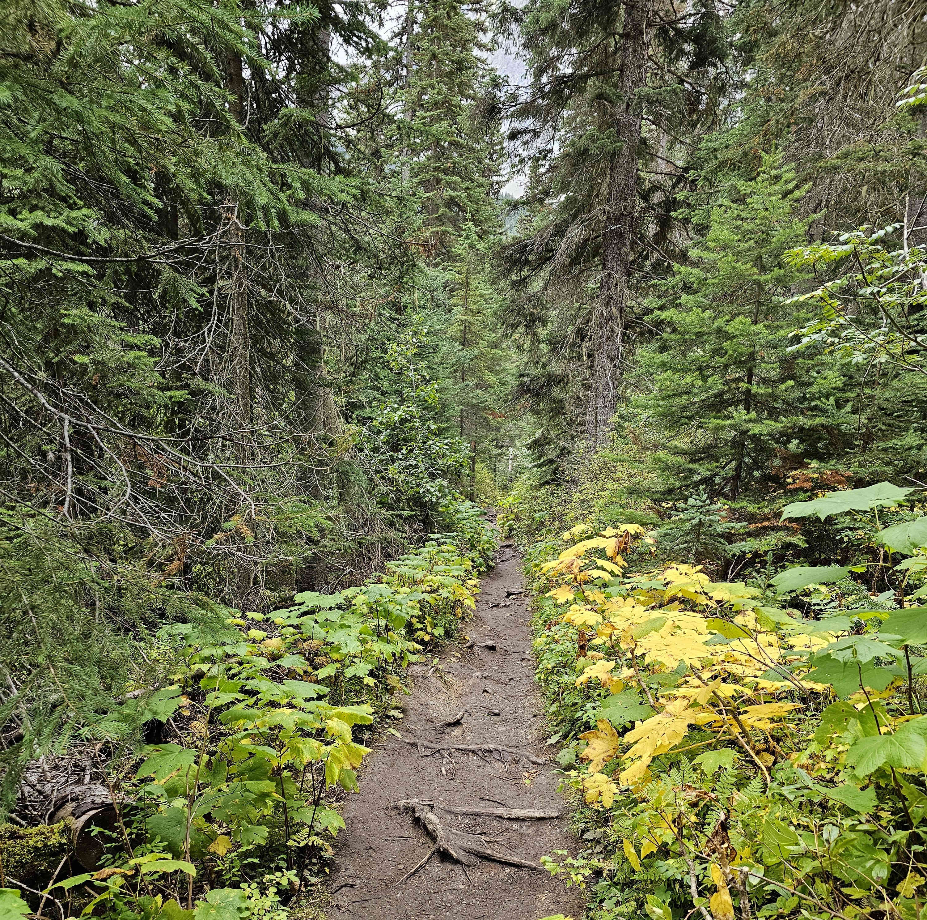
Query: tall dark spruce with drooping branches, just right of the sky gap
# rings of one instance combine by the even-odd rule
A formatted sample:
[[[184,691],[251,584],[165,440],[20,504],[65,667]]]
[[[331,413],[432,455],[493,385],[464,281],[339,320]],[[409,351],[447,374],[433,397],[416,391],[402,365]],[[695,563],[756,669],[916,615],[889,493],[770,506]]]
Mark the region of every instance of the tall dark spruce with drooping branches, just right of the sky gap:
[[[540,376],[549,386],[558,375],[570,378],[574,392],[565,402],[582,400],[573,414],[594,448],[610,431],[623,389],[641,235],[665,236],[672,188],[682,179],[677,161],[685,144],[667,129],[679,121],[681,134],[691,135],[712,110],[709,77],[724,54],[718,17],[710,6],[680,12],[651,0],[579,3],[566,11],[534,0],[513,18],[531,72],[528,97],[514,109],[514,136],[532,151],[527,203],[536,215],[505,254],[527,295],[514,324],[548,339],[553,360]],[[680,61],[702,83],[688,110],[679,104]],[[673,90],[661,94],[667,85]],[[662,192],[645,190],[642,163],[653,163],[650,172],[667,180]],[[548,323],[552,334],[545,335]],[[580,395],[581,365],[587,370]]]

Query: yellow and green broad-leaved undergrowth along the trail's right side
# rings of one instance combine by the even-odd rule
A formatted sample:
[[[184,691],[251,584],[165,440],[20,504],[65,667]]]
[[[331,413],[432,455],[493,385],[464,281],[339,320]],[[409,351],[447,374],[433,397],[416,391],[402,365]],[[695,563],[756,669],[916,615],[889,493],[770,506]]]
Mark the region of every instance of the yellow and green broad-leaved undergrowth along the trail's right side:
[[[584,847],[547,864],[588,890],[590,916],[921,916],[919,489],[786,505],[808,539],[839,533],[844,558],[745,581],[670,561],[665,532],[597,531],[590,505],[559,505],[578,523],[556,534],[534,496],[507,504]]]

